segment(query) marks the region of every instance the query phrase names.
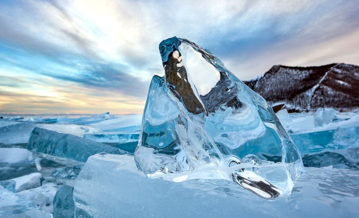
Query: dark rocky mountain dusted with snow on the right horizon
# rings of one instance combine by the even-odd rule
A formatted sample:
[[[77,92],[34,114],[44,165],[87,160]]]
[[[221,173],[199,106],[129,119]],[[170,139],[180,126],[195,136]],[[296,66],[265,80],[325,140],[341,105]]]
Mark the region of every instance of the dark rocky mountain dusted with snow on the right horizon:
[[[272,66],[262,76],[243,81],[275,110],[310,111],[319,107],[350,110],[359,107],[359,66]]]

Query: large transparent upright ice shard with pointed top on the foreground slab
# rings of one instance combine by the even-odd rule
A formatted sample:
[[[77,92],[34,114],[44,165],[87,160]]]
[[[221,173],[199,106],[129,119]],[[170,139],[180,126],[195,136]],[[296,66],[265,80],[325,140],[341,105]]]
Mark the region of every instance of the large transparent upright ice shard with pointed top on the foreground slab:
[[[291,192],[304,167],[271,106],[210,51],[173,37],[159,45],[137,167],[172,181],[226,178],[266,199]]]

